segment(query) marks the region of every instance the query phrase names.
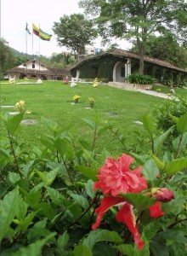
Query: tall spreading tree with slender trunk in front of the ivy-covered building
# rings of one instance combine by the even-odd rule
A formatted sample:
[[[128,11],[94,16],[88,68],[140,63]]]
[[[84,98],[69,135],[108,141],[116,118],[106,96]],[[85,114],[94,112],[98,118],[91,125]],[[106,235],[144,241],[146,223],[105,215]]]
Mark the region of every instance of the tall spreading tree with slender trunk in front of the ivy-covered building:
[[[96,16],[104,40],[114,37],[133,40],[139,50],[139,73],[144,73],[144,53],[150,35],[171,32],[181,44],[186,40],[184,0],[82,0],[79,7]]]

